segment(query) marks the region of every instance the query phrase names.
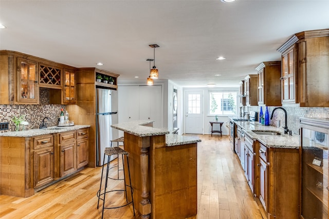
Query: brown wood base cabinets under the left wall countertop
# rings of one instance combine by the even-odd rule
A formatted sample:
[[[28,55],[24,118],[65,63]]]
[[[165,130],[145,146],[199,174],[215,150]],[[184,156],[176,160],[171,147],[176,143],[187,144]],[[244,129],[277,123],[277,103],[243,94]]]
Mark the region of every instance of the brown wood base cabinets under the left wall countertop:
[[[88,133],[89,128],[82,128],[33,137],[0,136],[0,193],[29,197],[86,166]]]

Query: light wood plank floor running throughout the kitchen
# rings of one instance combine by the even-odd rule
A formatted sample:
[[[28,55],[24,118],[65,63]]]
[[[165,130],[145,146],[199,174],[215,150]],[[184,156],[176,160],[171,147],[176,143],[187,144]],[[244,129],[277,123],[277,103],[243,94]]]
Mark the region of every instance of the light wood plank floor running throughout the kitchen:
[[[229,138],[224,135],[197,136],[202,142],[198,143],[197,149],[198,213],[193,218],[263,218],[239,159],[231,151]],[[0,218],[101,218],[101,205],[97,209],[96,196],[100,173],[100,167],[86,168],[28,198],[0,195]],[[122,184],[117,181],[111,186],[119,188]],[[111,193],[106,196],[107,204],[124,202],[122,193]],[[134,218],[132,205],[104,210],[104,218]]]

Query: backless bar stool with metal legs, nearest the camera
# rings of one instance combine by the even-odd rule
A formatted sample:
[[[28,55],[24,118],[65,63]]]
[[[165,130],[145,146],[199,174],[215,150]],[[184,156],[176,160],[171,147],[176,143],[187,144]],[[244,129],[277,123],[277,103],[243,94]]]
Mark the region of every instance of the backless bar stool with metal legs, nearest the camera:
[[[129,185],[126,184],[126,177],[125,177],[125,172],[123,171],[123,180],[124,180],[124,189],[116,189],[116,190],[109,190],[106,191],[107,188],[107,182],[108,182],[108,172],[109,172],[109,161],[110,161],[110,156],[111,155],[119,155],[121,154],[122,156],[125,155],[127,158],[127,168],[128,168],[128,175],[129,175]],[[99,200],[103,200],[103,209],[102,209],[102,218],[103,218],[103,214],[104,214],[104,209],[114,209],[114,208],[121,208],[124,206],[127,206],[129,204],[133,204],[133,211],[134,211],[134,216],[135,216],[135,206],[134,206],[134,198],[133,198],[133,187],[132,187],[132,182],[131,182],[131,178],[130,178],[130,169],[129,169],[129,153],[126,152],[125,150],[121,149],[120,147],[110,147],[110,148],[105,148],[104,151],[104,161],[105,161],[105,155],[107,155],[107,168],[106,168],[106,177],[105,177],[105,188],[104,188],[104,192],[101,193],[101,189],[102,189],[102,178],[103,178],[103,170],[104,170],[104,165],[102,167],[102,174],[101,174],[101,182],[100,182],[100,186],[99,186],[99,190],[97,191],[97,197],[98,197],[98,203],[97,203],[97,209],[99,208]],[[103,161],[103,163],[104,163]],[[123,169],[124,169],[124,162],[122,159],[122,165],[123,165]],[[116,179],[114,179],[116,180]],[[132,197],[132,201],[128,202],[128,198],[127,198],[127,187],[130,187],[131,190],[131,197]],[[115,191],[124,191],[125,192],[125,200],[126,200],[126,204],[121,205],[121,206],[113,206],[113,207],[105,207],[105,195],[108,192],[115,192]],[[103,197],[102,197],[103,196]]]

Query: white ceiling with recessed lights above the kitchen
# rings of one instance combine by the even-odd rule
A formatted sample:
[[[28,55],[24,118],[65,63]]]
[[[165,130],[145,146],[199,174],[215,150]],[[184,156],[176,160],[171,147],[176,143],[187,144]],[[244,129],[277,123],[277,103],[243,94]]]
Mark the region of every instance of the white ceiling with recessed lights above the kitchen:
[[[0,23],[1,50],[112,71],[119,83],[145,83],[149,45],[158,44],[159,79],[231,87],[280,60],[277,49],[294,33],[329,28],[329,0],[0,0]]]

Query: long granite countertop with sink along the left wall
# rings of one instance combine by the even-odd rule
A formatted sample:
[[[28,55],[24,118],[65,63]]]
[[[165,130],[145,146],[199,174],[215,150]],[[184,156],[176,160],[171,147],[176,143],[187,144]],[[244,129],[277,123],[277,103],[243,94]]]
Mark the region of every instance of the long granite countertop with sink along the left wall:
[[[82,128],[89,128],[90,125],[74,125],[74,126],[51,126],[46,129],[29,129],[26,131],[9,131],[9,132],[2,132],[0,136],[7,136],[7,137],[33,137],[43,134],[52,134],[52,133],[59,133],[59,132],[66,132],[72,131]]]

